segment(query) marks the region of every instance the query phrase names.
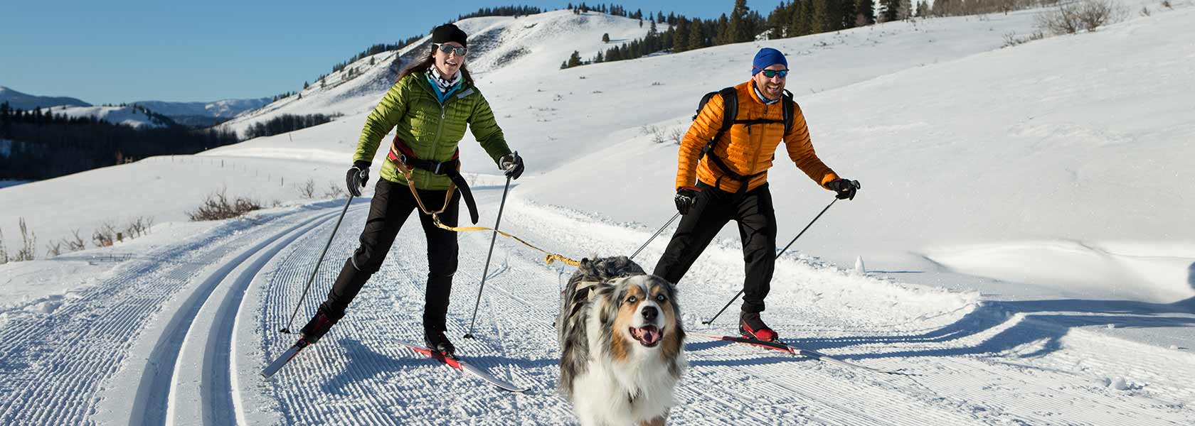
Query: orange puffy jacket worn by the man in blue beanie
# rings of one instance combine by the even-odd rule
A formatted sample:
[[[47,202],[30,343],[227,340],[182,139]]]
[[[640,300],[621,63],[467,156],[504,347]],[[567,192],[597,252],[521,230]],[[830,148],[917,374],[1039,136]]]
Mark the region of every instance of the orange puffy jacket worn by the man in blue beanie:
[[[809,141],[809,128],[805,125],[804,115],[801,113],[801,106],[793,105],[792,128],[785,134],[783,123],[784,111],[780,103],[772,105],[764,104],[759,99],[759,95],[755,94],[750,81],[735,86],[735,89],[739,91],[737,119],[764,118],[774,119],[779,123],[735,124],[722,135],[722,140],[715,146],[711,155],[721,158],[723,162],[734,168],[735,173],[752,175],[772,168],[773,154],[783,138],[785,148],[789,152],[789,159],[797,163],[797,168],[805,172],[819,185],[826,187],[827,183],[838,179],[838,174],[834,174],[834,171],[822,163],[817,159],[817,154],[814,153],[813,142]],[[723,191],[739,191],[741,184],[730,177],[725,177],[721,183],[718,181],[718,178],[724,173],[717,165],[711,163],[709,158],[701,159],[700,165],[698,163],[701,148],[722,128],[723,105],[721,95],[710,98],[705,107],[697,116],[697,119],[693,121],[693,125],[688,128],[688,132],[685,134],[678,159],[678,189],[681,186],[693,186],[695,184],[694,179],[700,179],[711,186],[718,183],[718,189]],[[747,190],[754,190],[765,183],[767,183],[767,173],[750,179]]]

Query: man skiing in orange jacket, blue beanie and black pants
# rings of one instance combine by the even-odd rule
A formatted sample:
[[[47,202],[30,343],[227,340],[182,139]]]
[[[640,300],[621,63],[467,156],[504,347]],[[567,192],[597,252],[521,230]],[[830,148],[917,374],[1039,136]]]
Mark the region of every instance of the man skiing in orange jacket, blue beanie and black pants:
[[[857,190],[814,153],[801,107],[784,91],[788,74],[784,54],[760,49],[752,63],[752,79],[709,98],[701,107],[678,159],[674,202],[685,217],[652,272],[680,282],[722,227],[731,220],[739,222],[747,268],[739,331],[765,341],[779,338],[760,319],[776,267],[776,211],[767,184],[776,148],[783,140],[797,168],[838,192],[839,199],[853,199]],[[727,111],[736,113],[725,117]],[[723,118],[734,121],[725,131]]]

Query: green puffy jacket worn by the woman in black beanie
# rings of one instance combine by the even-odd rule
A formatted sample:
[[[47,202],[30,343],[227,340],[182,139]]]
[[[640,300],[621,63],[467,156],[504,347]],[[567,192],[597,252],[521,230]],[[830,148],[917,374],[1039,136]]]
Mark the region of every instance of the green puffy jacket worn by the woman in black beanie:
[[[427,73],[411,73],[390,88],[381,103],[366,118],[361,129],[361,140],[353,161],[372,162],[378,146],[390,129],[406,142],[416,158],[433,161],[452,160],[456,144],[465,136],[465,125],[473,132],[477,142],[498,162],[503,155],[510,154],[498,122],[485,97],[468,82],[461,82],[455,93],[449,94],[441,105],[436,99],[435,88],[428,81]],[[390,149],[387,146],[386,149]],[[406,179],[393,161],[384,161],[382,179],[405,185]],[[451,180],[446,175],[431,174],[416,168],[411,175],[415,186],[421,190],[447,190]]]

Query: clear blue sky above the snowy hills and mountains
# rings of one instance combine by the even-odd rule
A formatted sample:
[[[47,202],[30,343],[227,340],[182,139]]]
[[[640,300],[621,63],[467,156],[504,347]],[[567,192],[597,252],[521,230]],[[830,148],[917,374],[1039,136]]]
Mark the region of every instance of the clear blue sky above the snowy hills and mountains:
[[[0,86],[92,104],[270,97],[302,88],[304,81],[372,44],[427,33],[480,7],[547,10],[568,2],[7,1],[0,25]],[[644,13],[701,18],[727,13],[734,5],[613,2]],[[765,14],[778,4],[747,1]]]

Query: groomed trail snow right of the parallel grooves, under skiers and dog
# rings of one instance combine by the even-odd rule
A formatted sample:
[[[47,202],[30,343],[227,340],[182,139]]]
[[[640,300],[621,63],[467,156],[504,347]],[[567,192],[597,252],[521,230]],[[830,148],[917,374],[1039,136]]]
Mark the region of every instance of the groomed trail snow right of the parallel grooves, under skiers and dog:
[[[495,204],[494,192],[497,191],[478,191],[479,203]],[[350,212],[345,220],[350,230],[333,243],[327,260],[332,265],[343,264],[344,257],[355,248],[363,216],[363,211]],[[571,239],[584,239],[586,235],[569,235],[558,227],[545,226],[537,215],[511,214],[508,217],[503,220],[503,230],[544,242],[549,249],[559,248],[566,255],[580,257],[581,253],[568,252],[580,247],[599,253],[626,249],[611,248],[624,245],[620,237],[589,239],[587,246],[574,245]],[[488,220],[492,221],[483,217],[483,224]],[[259,388],[259,396],[277,401],[281,412],[277,419],[283,422],[351,420],[357,424],[435,424],[427,419],[451,416],[495,425],[575,421],[568,403],[556,394],[558,354],[551,323],[558,309],[560,277],[557,265],[545,266],[537,252],[500,240],[495,248],[492,273],[478,309],[473,331],[477,339],[464,339],[461,335],[468,327],[489,234],[462,234],[459,237],[461,266],[455,277],[449,310],[449,335],[460,353],[498,377],[529,385],[532,389],[527,395],[495,390],[479,379],[413,356],[394,342],[418,340],[422,332],[419,315],[427,259],[422,230],[411,224],[413,221],[404,227],[381,271],[358,295],[345,320],[320,345],[306,350],[274,382],[266,383],[266,388]],[[258,305],[263,310],[261,319],[264,323],[255,328],[264,339],[258,348],[261,353],[252,359],[255,365],[266,363],[268,356],[275,356],[293,340],[280,337],[275,331],[289,315],[290,303],[301,291],[293,283],[310,273],[300,265],[311,264],[312,258],[318,255],[321,248],[318,239],[324,235],[326,231],[300,236],[293,248],[282,249],[281,260],[274,265],[276,267],[265,272],[272,278],[264,284],[264,297]],[[650,231],[642,237],[646,235]],[[658,257],[657,246],[663,243],[654,242],[652,249],[645,251],[638,260],[650,268],[651,263],[645,259]],[[711,249],[735,248],[711,246]],[[723,270],[740,268],[735,260],[722,264],[719,257],[710,259],[717,264],[716,268]],[[786,270],[778,271],[778,280],[791,278],[783,272]],[[320,273],[315,285],[319,290],[308,296],[300,317],[305,319],[314,309],[314,303],[323,298],[337,271],[337,267],[330,267]],[[724,297],[733,295],[721,288],[717,291],[692,288],[703,282],[707,280],[681,284],[680,297],[687,315],[707,315],[724,303]],[[777,301],[792,300],[795,294],[802,292],[780,282],[773,288]],[[1114,390],[1091,385],[1089,382],[1093,375],[1084,376],[1086,370],[1133,371],[1129,370],[1132,366],[1124,365],[1126,359],[1132,357],[1103,357],[1101,352],[1139,353],[1136,350],[1145,346],[1133,344],[1132,348],[1117,348],[1116,340],[1105,341],[1104,337],[1080,331],[1066,337],[1066,346],[1081,348],[1081,352],[1055,351],[1050,358],[1021,358],[1006,351],[988,352],[985,344],[991,345],[991,341],[1001,339],[1003,333],[1013,329],[1032,333],[1049,325],[1005,317],[998,304],[970,310],[949,307],[946,311],[952,313],[929,316],[944,316],[934,321],[952,319],[954,322],[948,321],[943,327],[940,321],[930,321],[917,333],[848,323],[825,327],[810,321],[834,315],[833,310],[819,313],[823,308],[799,303],[770,305],[768,313],[771,322],[786,331],[793,344],[862,365],[906,369],[918,376],[880,375],[693,337],[687,344],[691,370],[678,390],[680,405],[673,412],[673,419],[678,424],[1182,425],[1191,416],[1189,408],[1168,405],[1147,394],[1117,395]],[[698,331],[693,322],[687,322],[688,327]],[[962,332],[938,335],[924,331],[949,327],[961,327]],[[700,331],[734,332],[733,319],[722,319],[713,328]],[[857,335],[875,337],[852,338]],[[1166,365],[1168,371],[1177,377],[1195,375],[1190,366],[1184,365],[1190,359],[1189,354],[1156,352],[1157,348],[1151,348],[1140,353],[1138,359],[1142,366],[1135,370],[1152,370],[1144,364],[1154,363]],[[1072,362],[1083,366],[1068,366]],[[1134,377],[1151,378],[1144,371]],[[441,394],[429,389],[451,391]],[[1175,391],[1181,394],[1188,390]],[[1168,395],[1164,391],[1160,396]],[[754,409],[743,409],[747,405]],[[1076,420],[1084,419],[1087,412],[1101,413],[1102,420]]]

